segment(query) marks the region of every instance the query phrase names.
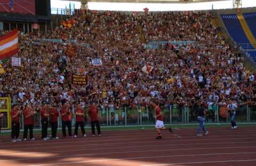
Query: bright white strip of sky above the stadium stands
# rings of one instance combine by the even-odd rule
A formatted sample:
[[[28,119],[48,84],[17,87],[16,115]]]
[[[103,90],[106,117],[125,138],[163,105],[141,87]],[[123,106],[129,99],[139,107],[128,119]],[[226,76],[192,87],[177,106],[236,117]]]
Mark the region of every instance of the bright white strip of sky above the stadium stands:
[[[52,8],[66,8],[71,3],[71,8],[80,8],[80,2],[51,0]],[[211,10],[222,8],[233,8],[233,0],[219,2],[205,2],[192,4],[166,4],[166,3],[88,3],[90,10],[110,10],[110,11],[143,11],[143,8],[149,8],[149,11],[187,11],[187,10]],[[255,0],[242,0],[242,7],[255,7]]]

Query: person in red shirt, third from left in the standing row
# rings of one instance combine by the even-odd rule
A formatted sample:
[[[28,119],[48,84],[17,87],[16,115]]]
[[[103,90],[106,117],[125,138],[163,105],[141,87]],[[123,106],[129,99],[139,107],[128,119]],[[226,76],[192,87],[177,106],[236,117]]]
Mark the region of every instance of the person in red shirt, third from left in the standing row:
[[[49,124],[48,117],[50,116],[50,113],[47,111],[47,104],[43,104],[43,108],[40,110],[40,115],[41,115],[41,124],[42,124],[42,140],[46,141],[50,139],[47,137],[47,128]]]

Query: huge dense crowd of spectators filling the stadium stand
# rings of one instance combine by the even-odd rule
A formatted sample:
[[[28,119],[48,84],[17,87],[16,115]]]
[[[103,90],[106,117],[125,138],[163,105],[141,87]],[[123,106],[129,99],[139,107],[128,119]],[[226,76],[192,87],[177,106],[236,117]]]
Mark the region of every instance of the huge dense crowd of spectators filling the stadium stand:
[[[82,108],[99,102],[113,109],[150,100],[191,110],[228,100],[255,104],[255,74],[247,73],[241,57],[218,37],[210,12],[91,12],[68,19],[76,23],[47,34],[20,31],[16,57],[21,66],[12,66],[11,59],[3,65],[1,97],[11,97],[12,104],[21,107],[30,103],[37,110],[43,103],[60,108],[66,101]],[[140,39],[140,25],[146,43]],[[77,41],[75,57],[65,54],[67,40]],[[149,41],[195,42],[145,48]],[[92,58],[101,58],[102,66],[92,65]],[[145,65],[154,68],[146,73],[141,70]],[[89,75],[87,85],[71,84],[72,74]]]

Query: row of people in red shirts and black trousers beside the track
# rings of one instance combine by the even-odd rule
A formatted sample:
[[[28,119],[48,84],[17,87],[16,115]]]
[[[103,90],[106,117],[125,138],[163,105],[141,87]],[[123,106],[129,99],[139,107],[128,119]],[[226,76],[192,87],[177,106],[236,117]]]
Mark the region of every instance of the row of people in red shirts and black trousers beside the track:
[[[88,115],[91,119],[91,129],[92,136],[95,136],[95,125],[97,127],[98,135],[101,136],[99,117],[98,117],[98,105],[92,103],[91,107],[88,110]],[[46,141],[50,138],[59,139],[57,137],[57,129],[58,129],[58,117],[61,116],[62,123],[62,135],[65,138],[77,137],[78,135],[78,127],[80,126],[83,137],[86,137],[85,129],[84,129],[84,109],[81,107],[81,104],[76,104],[75,109],[75,132],[74,136],[72,135],[71,130],[71,119],[73,117],[73,112],[69,107],[68,103],[63,103],[60,112],[57,111],[56,105],[52,104],[48,106],[46,103],[43,103],[42,109],[40,109],[39,113],[41,116],[41,124],[42,124],[42,137],[41,139]],[[20,133],[20,117],[23,113],[23,124],[24,124],[24,132],[23,132],[23,141],[27,141],[28,129],[29,129],[29,138],[30,141],[34,141],[34,115],[37,114],[30,104],[26,104],[23,111],[18,106],[18,104],[14,104],[13,109],[11,110],[11,119],[12,119],[12,132],[11,132],[11,141],[19,142],[21,139],[19,138]],[[49,126],[49,120],[51,123],[51,137],[47,136],[47,129]],[[66,134],[66,127],[68,128],[68,136]]]

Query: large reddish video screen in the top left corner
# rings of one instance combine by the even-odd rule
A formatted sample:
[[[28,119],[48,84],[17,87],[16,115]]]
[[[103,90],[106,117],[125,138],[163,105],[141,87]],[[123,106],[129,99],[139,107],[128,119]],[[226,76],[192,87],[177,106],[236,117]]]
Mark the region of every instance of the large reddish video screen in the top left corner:
[[[44,1],[44,0],[42,0]],[[8,6],[10,0],[0,1],[0,12],[15,12],[35,15],[35,1],[34,0],[14,0],[14,11]]]

